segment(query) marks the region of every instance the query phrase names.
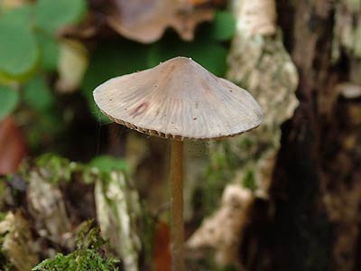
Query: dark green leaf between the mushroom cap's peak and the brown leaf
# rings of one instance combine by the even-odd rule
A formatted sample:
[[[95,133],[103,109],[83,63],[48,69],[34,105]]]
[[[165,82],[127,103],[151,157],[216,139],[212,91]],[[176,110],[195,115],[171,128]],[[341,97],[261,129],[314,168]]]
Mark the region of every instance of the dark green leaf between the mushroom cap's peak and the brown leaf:
[[[154,43],[148,55],[148,63],[155,66],[177,56],[189,57],[217,76],[224,76],[227,70],[227,50],[218,42],[204,37],[194,42],[163,39]]]

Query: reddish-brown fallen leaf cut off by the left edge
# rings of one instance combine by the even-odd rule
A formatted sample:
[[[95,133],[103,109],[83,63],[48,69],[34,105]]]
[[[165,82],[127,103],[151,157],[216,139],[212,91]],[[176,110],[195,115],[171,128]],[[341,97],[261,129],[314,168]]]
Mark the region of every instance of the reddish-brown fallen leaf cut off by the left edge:
[[[12,117],[6,117],[0,122],[0,174],[15,173],[24,155],[22,132]]]

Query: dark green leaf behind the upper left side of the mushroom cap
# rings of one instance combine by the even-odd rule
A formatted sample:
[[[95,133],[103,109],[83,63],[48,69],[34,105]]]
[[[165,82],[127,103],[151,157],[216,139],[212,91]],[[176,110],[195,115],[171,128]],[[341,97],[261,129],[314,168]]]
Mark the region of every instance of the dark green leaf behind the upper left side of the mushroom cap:
[[[93,90],[107,79],[148,68],[146,55],[149,47],[143,44],[119,40],[101,42],[93,52],[82,83],[82,93],[88,99],[93,115],[103,122],[105,117],[93,99]]]

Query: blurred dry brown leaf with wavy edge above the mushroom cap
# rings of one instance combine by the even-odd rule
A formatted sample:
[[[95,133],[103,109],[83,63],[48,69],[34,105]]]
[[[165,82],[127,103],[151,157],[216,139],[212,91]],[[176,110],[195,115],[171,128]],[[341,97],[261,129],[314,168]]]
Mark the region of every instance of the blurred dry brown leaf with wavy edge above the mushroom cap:
[[[197,24],[211,21],[213,9],[195,7],[189,0],[113,0],[106,7],[106,21],[117,33],[136,42],[159,40],[173,28],[191,41]]]

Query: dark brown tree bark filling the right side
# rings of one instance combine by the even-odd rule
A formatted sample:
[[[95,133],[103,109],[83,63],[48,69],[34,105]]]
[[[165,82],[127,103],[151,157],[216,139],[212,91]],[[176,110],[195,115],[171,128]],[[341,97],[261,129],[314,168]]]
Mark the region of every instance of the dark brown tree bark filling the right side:
[[[241,257],[249,270],[360,270],[361,109],[344,84],[359,88],[359,59],[357,48],[342,40],[349,34],[358,42],[361,3],[354,2],[356,10],[343,1],[277,3],[284,44],[300,75],[300,106],[282,126],[272,201],[255,204],[247,229]],[[338,15],[347,13],[354,24],[339,30]]]

